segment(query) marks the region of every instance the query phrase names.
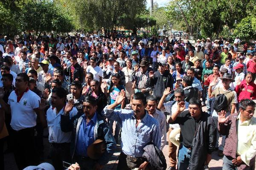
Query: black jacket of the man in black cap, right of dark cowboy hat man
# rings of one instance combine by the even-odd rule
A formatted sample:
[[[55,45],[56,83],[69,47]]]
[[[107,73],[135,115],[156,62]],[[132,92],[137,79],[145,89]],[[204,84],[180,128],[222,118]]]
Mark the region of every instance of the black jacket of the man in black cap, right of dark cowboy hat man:
[[[163,91],[166,88],[169,87],[172,90],[174,80],[168,70],[166,70],[163,75],[161,75],[159,71],[156,71],[154,73],[154,77],[150,80],[151,86],[154,86],[153,93],[157,98],[161,98],[163,96]]]

